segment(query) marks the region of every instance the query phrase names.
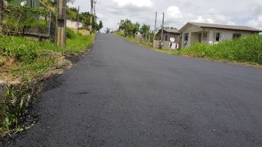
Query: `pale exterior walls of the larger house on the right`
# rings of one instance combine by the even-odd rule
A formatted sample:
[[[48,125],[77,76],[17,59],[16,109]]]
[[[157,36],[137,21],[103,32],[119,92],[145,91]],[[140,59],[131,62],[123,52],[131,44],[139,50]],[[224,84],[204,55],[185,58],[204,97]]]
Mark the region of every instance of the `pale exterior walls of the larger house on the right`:
[[[187,44],[184,45],[185,33],[189,33]],[[180,45],[182,48],[190,47],[194,42],[199,42],[199,33],[201,33],[201,42],[206,43],[207,45],[217,44],[222,40],[233,39],[233,33],[241,33],[241,36],[247,36],[251,33],[258,35],[259,33],[254,31],[238,31],[238,30],[226,30],[226,29],[209,29],[209,28],[200,28],[198,26],[190,25],[182,32],[182,38]],[[203,39],[203,33],[207,33],[207,38]],[[216,33],[220,33],[219,41],[216,41]]]

